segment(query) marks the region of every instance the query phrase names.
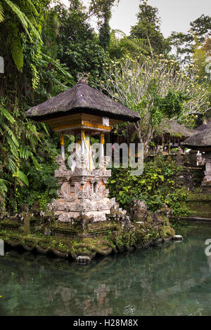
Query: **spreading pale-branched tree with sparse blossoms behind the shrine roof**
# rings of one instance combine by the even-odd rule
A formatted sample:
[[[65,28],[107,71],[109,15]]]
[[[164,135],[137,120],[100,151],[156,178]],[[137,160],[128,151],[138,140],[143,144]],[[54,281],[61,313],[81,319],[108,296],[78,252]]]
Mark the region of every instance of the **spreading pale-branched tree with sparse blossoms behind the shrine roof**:
[[[153,58],[129,58],[104,65],[105,79],[96,84],[110,97],[139,112],[137,136],[145,147],[153,138],[162,119],[177,119],[193,126],[198,114],[208,109],[207,84],[198,83],[194,65],[179,68],[176,60],[162,54]]]

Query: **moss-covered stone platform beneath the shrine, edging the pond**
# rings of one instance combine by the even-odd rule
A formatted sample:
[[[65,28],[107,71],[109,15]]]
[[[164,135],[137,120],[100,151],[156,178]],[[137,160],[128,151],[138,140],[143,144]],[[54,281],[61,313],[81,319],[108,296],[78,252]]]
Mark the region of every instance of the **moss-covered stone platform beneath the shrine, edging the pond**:
[[[100,223],[87,219],[85,227],[77,223],[59,223],[55,219],[34,226],[30,216],[24,222],[7,219],[0,222],[0,238],[11,246],[21,245],[27,251],[36,249],[39,253],[75,260],[81,258],[86,262],[96,255],[132,251],[158,239],[174,236],[164,211],[157,216],[149,212],[144,222],[134,222],[129,226],[121,215],[115,219],[115,215]],[[49,232],[51,235],[46,234]]]

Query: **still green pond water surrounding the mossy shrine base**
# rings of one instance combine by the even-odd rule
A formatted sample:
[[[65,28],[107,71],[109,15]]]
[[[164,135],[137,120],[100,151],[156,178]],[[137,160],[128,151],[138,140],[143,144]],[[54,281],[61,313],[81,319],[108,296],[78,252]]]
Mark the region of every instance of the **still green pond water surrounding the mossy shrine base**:
[[[183,242],[89,265],[8,251],[0,257],[0,315],[211,315],[211,226],[177,234]]]

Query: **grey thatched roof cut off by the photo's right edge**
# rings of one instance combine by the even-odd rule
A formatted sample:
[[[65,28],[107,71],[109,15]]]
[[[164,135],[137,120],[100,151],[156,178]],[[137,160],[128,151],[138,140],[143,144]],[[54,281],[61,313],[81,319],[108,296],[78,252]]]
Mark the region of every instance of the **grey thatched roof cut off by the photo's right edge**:
[[[190,138],[187,138],[181,144],[185,147],[189,147],[191,149],[196,150],[211,147],[211,129],[205,129],[205,131],[202,131],[200,133],[195,134],[194,136],[191,136]]]

